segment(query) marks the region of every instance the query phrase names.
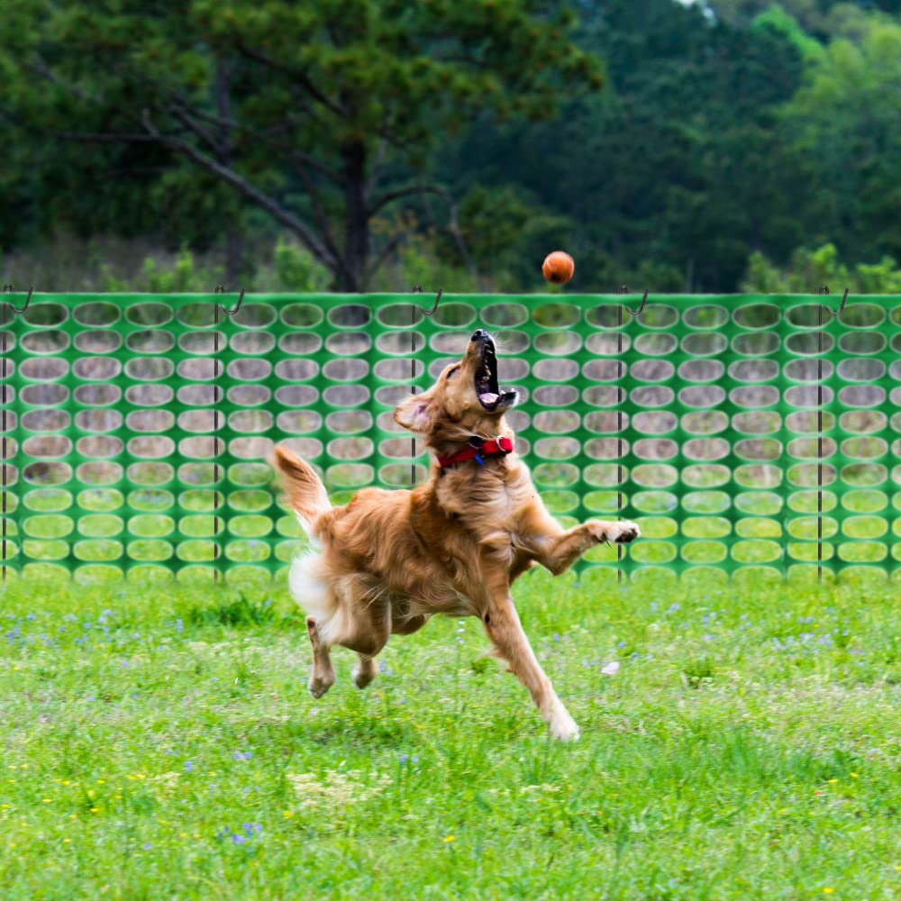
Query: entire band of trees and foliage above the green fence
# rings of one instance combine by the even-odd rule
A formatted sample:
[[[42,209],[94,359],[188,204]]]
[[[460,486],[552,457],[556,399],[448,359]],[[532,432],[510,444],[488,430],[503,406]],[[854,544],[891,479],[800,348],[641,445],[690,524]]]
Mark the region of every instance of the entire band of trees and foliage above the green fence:
[[[898,0],[566,6],[0,0],[5,279],[719,292],[754,251],[901,259]]]

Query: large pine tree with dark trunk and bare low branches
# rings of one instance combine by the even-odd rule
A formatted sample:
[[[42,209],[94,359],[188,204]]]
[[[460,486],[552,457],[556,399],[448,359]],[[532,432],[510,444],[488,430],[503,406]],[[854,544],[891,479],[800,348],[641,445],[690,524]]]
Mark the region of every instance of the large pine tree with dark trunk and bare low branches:
[[[452,229],[453,197],[425,177],[446,130],[478,114],[546,119],[601,86],[596,59],[567,37],[572,15],[546,8],[5,0],[0,114],[67,142],[46,160],[59,181],[72,166],[158,176],[184,161],[292,232],[339,290],[359,291],[403,240],[373,246],[370,225],[392,205],[439,197]],[[72,154],[72,142],[93,150]]]

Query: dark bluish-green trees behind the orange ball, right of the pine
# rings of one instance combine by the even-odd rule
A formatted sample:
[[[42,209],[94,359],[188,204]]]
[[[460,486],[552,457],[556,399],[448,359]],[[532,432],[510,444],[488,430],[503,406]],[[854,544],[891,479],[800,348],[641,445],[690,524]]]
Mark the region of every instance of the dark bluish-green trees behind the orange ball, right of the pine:
[[[582,5],[575,37],[605,59],[603,95],[549,123],[486,123],[452,168],[577,223],[579,290],[645,276],[651,289],[731,291],[752,250],[784,259],[805,240],[815,187],[776,128],[801,83],[796,46],[672,0]]]

